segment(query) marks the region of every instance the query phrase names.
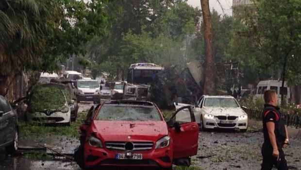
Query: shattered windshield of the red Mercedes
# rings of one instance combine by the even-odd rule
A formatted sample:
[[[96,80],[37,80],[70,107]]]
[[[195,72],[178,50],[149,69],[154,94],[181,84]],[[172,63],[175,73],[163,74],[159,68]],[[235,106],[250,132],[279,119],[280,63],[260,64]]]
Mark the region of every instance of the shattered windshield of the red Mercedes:
[[[160,121],[162,119],[154,106],[107,104],[101,107],[96,120]]]

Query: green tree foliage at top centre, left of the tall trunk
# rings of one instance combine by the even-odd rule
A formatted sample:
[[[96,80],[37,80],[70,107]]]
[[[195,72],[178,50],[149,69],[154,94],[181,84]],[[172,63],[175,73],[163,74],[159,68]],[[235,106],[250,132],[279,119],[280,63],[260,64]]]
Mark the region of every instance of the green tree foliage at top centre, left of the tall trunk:
[[[171,65],[196,58],[197,53],[187,51],[192,49],[191,40],[196,37],[201,12],[183,0],[172,1],[110,3],[111,31],[87,46],[88,56],[97,63],[93,68],[99,68],[98,74],[104,70],[100,67],[103,63],[106,63],[104,67],[114,68],[106,70],[110,74],[125,77],[127,68],[135,62]]]

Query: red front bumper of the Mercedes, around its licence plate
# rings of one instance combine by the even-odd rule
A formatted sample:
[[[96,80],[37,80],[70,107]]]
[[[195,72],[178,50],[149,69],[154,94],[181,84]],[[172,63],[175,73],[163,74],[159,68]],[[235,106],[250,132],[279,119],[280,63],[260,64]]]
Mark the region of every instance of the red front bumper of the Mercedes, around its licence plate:
[[[84,164],[88,169],[100,167],[170,168],[172,166],[172,150],[170,146],[149,151],[134,151],[133,153],[142,154],[142,160],[116,159],[117,153],[125,153],[125,151],[95,148],[87,143],[84,148]]]

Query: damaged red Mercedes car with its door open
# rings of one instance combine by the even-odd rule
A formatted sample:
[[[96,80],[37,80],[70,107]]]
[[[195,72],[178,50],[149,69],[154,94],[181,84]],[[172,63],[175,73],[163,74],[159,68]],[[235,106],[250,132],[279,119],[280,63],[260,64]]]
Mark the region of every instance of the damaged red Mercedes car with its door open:
[[[189,166],[190,156],[198,151],[199,126],[190,106],[166,122],[152,102],[106,102],[92,106],[80,129],[81,146],[74,155],[84,169],[171,170],[172,164]]]

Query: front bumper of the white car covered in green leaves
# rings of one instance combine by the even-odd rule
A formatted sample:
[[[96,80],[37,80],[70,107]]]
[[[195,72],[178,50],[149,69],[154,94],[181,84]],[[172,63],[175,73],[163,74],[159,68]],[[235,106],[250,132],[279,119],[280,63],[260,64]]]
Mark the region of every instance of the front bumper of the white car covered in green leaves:
[[[45,113],[29,113],[28,118],[32,121],[42,121],[43,123],[68,123],[71,119],[70,110],[67,113],[55,112],[49,116]]]

